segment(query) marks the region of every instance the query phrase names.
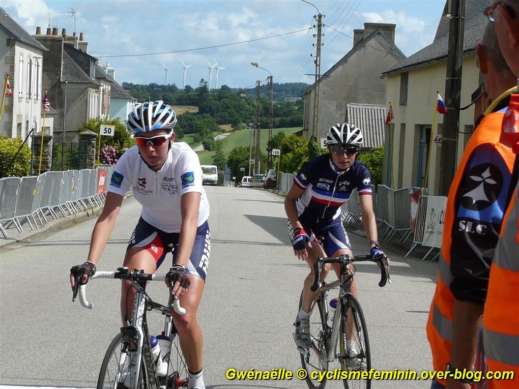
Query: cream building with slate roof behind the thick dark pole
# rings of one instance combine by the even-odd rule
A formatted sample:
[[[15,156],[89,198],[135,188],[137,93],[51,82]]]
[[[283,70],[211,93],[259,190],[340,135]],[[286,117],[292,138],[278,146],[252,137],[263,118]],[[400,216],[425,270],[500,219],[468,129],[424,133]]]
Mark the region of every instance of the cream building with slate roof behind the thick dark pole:
[[[482,83],[476,67],[475,45],[482,38],[488,23],[487,17],[483,16],[483,10],[488,4],[487,0],[467,0],[461,107],[470,104],[474,90]],[[386,105],[391,101],[394,112],[393,182],[396,188],[422,187],[425,182],[436,91],[440,91],[445,98],[449,20],[446,4],[433,43],[384,72],[387,79]],[[479,92],[475,92],[474,98],[478,94]],[[474,114],[474,106],[460,112],[458,161],[472,134]],[[437,114],[433,135],[442,132],[443,115]],[[389,146],[389,126],[386,126],[386,135],[386,146]],[[384,183],[390,186],[388,149],[389,147],[385,147],[383,178]],[[439,171],[442,163],[441,143],[433,144],[428,174],[431,195],[439,193]]]

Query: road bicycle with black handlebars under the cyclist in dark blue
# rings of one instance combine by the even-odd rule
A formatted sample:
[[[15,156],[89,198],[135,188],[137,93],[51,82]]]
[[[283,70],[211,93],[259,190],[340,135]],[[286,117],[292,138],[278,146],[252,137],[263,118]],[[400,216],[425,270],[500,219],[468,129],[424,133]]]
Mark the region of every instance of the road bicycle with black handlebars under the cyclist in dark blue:
[[[355,267],[353,262],[373,261],[380,263],[381,279],[378,285],[383,287],[391,283],[387,257],[381,256],[372,259],[370,255],[348,254],[339,257],[318,258],[313,264],[315,281],[311,291],[318,291],[310,309],[310,339],[308,349],[299,349],[301,364],[307,371],[306,383],[310,389],[323,389],[326,385],[326,376],[319,376],[319,372],[329,371],[329,363],[336,358],[340,363],[341,373],[351,374],[343,379],[345,389],[370,389],[371,380],[361,378],[362,371],[371,369],[370,341],[367,335],[366,320],[357,300],[351,293],[351,282]],[[340,264],[340,279],[330,284],[321,283],[322,267],[326,263]],[[339,287],[337,308],[333,315],[333,324],[329,323],[328,300],[326,292]],[[303,301],[303,294],[299,299],[299,309]],[[330,318],[331,319],[331,318]],[[338,345],[338,347],[337,347]],[[338,350],[337,350],[338,349]]]

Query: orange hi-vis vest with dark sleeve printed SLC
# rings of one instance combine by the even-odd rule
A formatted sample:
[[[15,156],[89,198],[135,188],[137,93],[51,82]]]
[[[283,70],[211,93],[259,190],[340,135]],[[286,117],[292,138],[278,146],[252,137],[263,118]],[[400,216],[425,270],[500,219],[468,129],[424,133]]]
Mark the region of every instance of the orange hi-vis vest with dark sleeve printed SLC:
[[[485,271],[481,271],[482,274],[489,271],[502,216],[509,201],[515,155],[511,148],[499,142],[503,115],[500,111],[486,115],[482,119],[467,143],[449,189],[439,274],[427,321],[427,338],[431,346],[433,367],[437,371],[445,370],[450,361],[452,347],[455,296],[451,287],[454,288],[454,283],[459,282],[453,275],[452,259],[454,266],[463,270],[467,266],[470,267],[471,262],[477,261],[480,267],[486,267]],[[498,161],[499,168],[489,166],[489,156]],[[496,177],[501,177],[501,181],[497,182]],[[474,180],[472,187],[467,184],[471,178]],[[479,184],[476,181],[481,185],[477,186]],[[488,185],[491,184],[495,184],[495,187],[501,186],[499,199],[487,196]],[[504,193],[505,191],[507,193]],[[485,279],[484,275],[481,275],[481,279]],[[470,283],[470,280],[467,282]],[[477,288],[482,297],[476,301],[483,304],[486,286]],[[469,298],[466,300],[470,301]],[[439,381],[443,385],[447,383],[446,380]]]

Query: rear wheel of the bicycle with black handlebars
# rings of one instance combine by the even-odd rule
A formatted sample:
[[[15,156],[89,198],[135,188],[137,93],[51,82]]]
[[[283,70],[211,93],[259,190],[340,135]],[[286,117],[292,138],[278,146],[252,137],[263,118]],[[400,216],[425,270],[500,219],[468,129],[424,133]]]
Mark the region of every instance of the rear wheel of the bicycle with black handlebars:
[[[303,293],[299,297],[299,309],[303,302]],[[322,321],[321,300],[320,297],[316,301],[317,309],[314,307],[310,314],[310,337],[312,339],[312,346],[308,349],[308,354],[299,354],[301,356],[301,365],[307,371],[306,384],[309,389],[323,389],[326,385],[326,377],[321,382],[312,380],[310,374],[312,371],[327,371],[328,370],[328,356],[326,346],[326,322]]]

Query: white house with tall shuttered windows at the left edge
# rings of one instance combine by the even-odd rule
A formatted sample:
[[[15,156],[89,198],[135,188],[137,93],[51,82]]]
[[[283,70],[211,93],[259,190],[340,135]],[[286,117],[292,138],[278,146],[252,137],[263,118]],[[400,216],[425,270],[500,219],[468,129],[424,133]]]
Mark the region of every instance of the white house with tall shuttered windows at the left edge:
[[[40,131],[42,117],[42,66],[48,50],[0,8],[0,76],[2,92],[9,74],[12,98],[6,97],[0,135],[25,138]],[[0,96],[0,101],[2,96]],[[46,127],[48,123],[45,123]],[[52,132],[52,128],[50,128]],[[31,140],[28,140],[29,145]]]

